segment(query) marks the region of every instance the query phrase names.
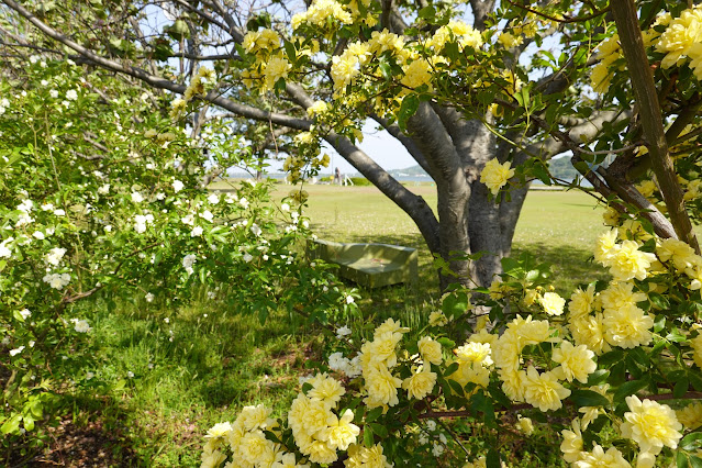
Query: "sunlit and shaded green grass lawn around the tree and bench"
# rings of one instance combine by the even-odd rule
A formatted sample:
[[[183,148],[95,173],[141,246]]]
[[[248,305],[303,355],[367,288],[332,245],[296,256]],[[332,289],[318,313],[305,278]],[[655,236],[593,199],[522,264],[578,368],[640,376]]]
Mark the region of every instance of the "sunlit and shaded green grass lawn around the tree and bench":
[[[435,205],[433,187],[410,188]],[[281,198],[290,189],[278,186],[275,194]],[[428,286],[421,291],[405,286],[361,290],[364,319],[357,326],[387,316],[412,326],[436,309],[431,256],[409,216],[372,187],[305,190],[307,215],[320,237],[420,249],[423,285]],[[604,231],[601,212],[583,193],[532,192],[514,250],[554,263],[556,286],[569,296],[577,282],[602,276],[588,263],[595,236]],[[237,312],[207,300],[204,291],[199,302],[180,309],[137,300],[113,312],[93,311],[101,364],[91,371],[118,390],[81,397],[75,420],[99,419],[107,430],[121,434],[113,450],[129,453],[131,460],[122,466],[172,467],[199,465],[204,432],[234,419],[245,404],[266,403],[282,413],[297,392],[298,378],[308,372],[304,363],[324,357],[321,330],[287,313],[272,314],[264,326]]]

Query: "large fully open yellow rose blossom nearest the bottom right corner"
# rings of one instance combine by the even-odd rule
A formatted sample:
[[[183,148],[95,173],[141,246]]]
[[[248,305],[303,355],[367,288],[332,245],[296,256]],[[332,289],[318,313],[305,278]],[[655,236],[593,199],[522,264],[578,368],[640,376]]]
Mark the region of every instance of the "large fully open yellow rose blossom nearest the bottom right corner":
[[[642,452],[654,455],[664,446],[678,448],[682,424],[670,406],[648,399],[640,401],[636,395],[626,397],[626,404],[631,411],[624,413],[622,436],[636,442]]]

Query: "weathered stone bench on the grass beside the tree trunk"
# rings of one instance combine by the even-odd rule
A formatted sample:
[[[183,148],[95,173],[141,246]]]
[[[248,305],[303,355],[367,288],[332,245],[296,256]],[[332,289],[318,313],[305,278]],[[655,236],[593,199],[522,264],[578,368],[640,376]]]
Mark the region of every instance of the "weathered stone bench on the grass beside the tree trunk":
[[[415,248],[389,244],[348,244],[310,241],[311,259],[322,259],[339,266],[338,275],[367,288],[415,282],[417,253]]]

